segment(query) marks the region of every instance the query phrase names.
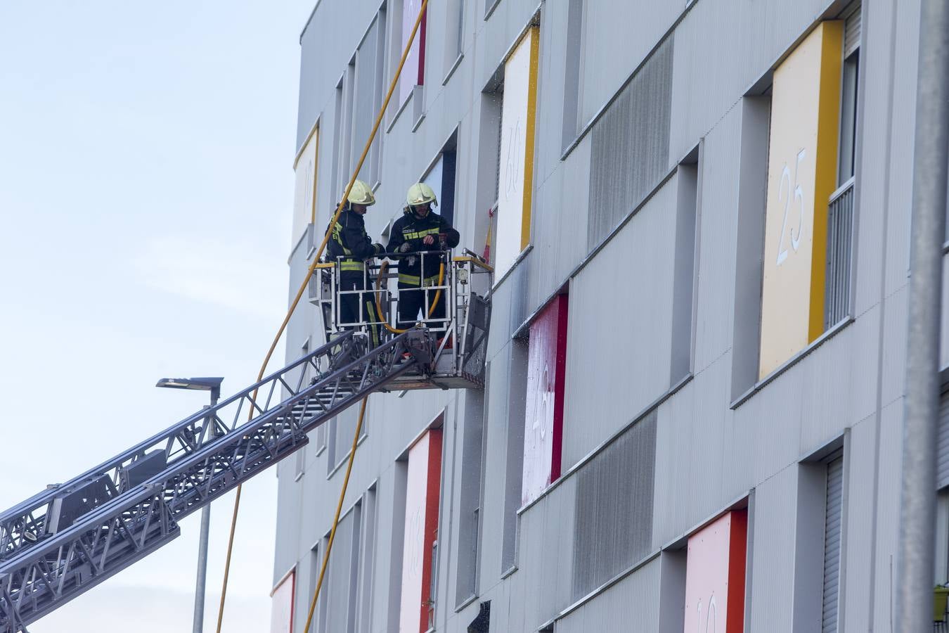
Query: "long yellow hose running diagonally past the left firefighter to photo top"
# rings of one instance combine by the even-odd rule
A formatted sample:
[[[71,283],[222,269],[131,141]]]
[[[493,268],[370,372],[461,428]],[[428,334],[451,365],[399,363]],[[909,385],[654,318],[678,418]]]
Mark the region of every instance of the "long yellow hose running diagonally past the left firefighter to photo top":
[[[342,199],[340,200],[339,206],[336,208],[336,213],[333,214],[333,218],[329,221],[329,225],[326,227],[326,234],[323,236],[323,241],[320,242],[320,248],[317,249],[316,254],[313,256],[313,263],[309,265],[307,269],[307,275],[304,277],[304,282],[300,285],[300,289],[297,290],[296,296],[293,298],[293,301],[290,303],[290,307],[287,311],[287,316],[284,317],[284,321],[280,324],[280,328],[277,330],[277,335],[273,338],[273,343],[270,344],[270,349],[267,351],[267,356],[264,358],[264,363],[260,367],[260,372],[257,374],[257,382],[260,382],[264,378],[264,372],[267,371],[267,365],[270,363],[270,357],[273,356],[273,351],[277,347],[280,338],[283,336],[284,331],[287,329],[290,317],[293,315],[294,310],[296,310],[297,305],[300,303],[300,299],[303,297],[303,293],[306,292],[307,286],[309,285],[309,278],[313,275],[313,271],[316,270],[317,264],[320,262],[320,257],[323,256],[323,251],[326,249],[326,243],[329,241],[329,235],[332,233],[333,225],[339,219],[340,214],[343,213],[343,208],[345,206],[346,198],[349,197],[349,192],[353,187],[353,183],[356,181],[356,176],[360,173],[360,170],[363,169],[363,162],[365,162],[365,157],[369,154],[369,148],[372,146],[372,141],[376,138],[376,133],[379,131],[379,126],[382,121],[382,117],[385,114],[386,108],[389,106],[389,101],[392,99],[392,93],[396,90],[396,85],[399,84],[399,77],[402,72],[402,66],[405,65],[405,60],[408,58],[409,50],[412,48],[413,42],[415,42],[416,33],[419,31],[419,25],[421,24],[422,15],[425,14],[425,8],[428,6],[428,0],[422,0],[421,7],[419,8],[419,16],[416,18],[415,26],[412,28],[412,32],[409,34],[408,42],[405,44],[405,49],[402,51],[402,57],[399,61],[399,66],[396,68],[396,73],[392,78],[392,82],[389,84],[389,91],[385,95],[385,99],[382,100],[382,105],[379,110],[379,114],[376,116],[376,122],[372,126],[372,132],[369,134],[369,140],[366,140],[365,147],[363,147],[363,154],[359,158],[359,162],[356,163],[356,168],[353,170],[353,174],[349,177],[349,182],[346,184],[346,190],[343,194]],[[253,392],[253,398],[256,399],[257,391]],[[253,417],[253,407],[250,407],[248,411],[248,420]],[[355,454],[355,449],[353,450]],[[352,456],[350,456],[350,459]],[[217,609],[217,627],[216,633],[221,633],[221,624],[224,620],[224,604],[227,598],[228,593],[228,577],[231,572],[231,554],[233,552],[234,545],[234,532],[237,527],[237,511],[240,508],[240,493],[243,485],[237,486],[237,493],[234,496],[234,509],[233,516],[231,519],[231,535],[228,538],[228,554],[224,564],[224,581],[221,586],[221,602]],[[345,491],[345,489],[344,489]],[[341,495],[342,498],[342,495]],[[336,525],[334,522],[333,530],[335,531]],[[328,549],[327,549],[328,551]],[[317,589],[319,593],[319,589]]]

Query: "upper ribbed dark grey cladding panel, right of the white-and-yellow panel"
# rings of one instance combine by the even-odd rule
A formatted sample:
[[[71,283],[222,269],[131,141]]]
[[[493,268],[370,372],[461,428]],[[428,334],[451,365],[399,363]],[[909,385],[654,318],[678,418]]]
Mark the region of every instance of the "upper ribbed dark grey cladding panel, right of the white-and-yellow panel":
[[[590,250],[668,171],[672,52],[670,37],[593,126],[586,233]]]

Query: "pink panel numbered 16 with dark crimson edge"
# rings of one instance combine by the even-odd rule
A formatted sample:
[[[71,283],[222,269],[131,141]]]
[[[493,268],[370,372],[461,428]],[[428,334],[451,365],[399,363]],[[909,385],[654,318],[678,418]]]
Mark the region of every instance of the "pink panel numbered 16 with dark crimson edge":
[[[567,363],[567,295],[558,295],[530,324],[521,503],[560,477]]]

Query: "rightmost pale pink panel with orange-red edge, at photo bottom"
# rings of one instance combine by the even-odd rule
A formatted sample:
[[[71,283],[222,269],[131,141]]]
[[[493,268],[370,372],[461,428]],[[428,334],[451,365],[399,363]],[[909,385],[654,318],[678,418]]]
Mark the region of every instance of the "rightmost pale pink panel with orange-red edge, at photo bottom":
[[[686,633],[741,633],[745,615],[748,515],[726,512],[689,536],[685,570]]]

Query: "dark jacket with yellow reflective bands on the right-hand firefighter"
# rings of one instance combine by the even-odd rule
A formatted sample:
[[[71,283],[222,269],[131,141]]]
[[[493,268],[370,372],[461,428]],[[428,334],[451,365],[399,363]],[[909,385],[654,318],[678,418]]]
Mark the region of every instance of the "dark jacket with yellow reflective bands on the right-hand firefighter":
[[[437,251],[438,236],[442,233],[445,236],[445,243],[452,249],[461,240],[458,232],[441,215],[430,211],[425,217],[419,217],[411,209],[406,209],[392,225],[387,251],[398,252],[402,244],[405,243],[408,243],[409,251]],[[432,235],[435,238],[435,244],[426,245],[422,243],[425,235]],[[399,285],[421,287],[421,256],[408,254],[401,256],[399,259]],[[438,281],[438,264],[439,260],[436,255],[426,256],[425,282],[428,285],[435,284]]]

